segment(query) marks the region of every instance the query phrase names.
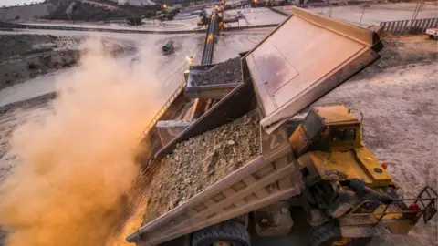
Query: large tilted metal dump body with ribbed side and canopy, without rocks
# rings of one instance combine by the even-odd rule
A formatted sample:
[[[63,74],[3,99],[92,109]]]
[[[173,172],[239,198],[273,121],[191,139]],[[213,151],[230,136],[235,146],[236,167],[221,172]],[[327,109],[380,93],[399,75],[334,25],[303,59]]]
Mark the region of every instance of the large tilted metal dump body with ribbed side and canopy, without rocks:
[[[155,158],[171,153],[178,142],[245,114],[253,106],[251,101],[263,118],[262,155],[147,223],[127,240],[156,245],[298,195],[300,174],[282,123],[377,59],[375,50],[380,46],[379,36],[370,30],[294,8],[294,15],[243,57],[244,82]]]

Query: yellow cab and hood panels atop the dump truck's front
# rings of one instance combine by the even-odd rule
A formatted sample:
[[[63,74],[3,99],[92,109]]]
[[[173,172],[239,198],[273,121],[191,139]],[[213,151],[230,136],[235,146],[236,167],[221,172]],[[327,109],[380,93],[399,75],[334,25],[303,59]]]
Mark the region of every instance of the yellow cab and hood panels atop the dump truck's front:
[[[345,106],[313,108],[289,141],[310,183],[336,176],[360,179],[370,187],[391,184],[386,169],[362,144],[359,119]]]

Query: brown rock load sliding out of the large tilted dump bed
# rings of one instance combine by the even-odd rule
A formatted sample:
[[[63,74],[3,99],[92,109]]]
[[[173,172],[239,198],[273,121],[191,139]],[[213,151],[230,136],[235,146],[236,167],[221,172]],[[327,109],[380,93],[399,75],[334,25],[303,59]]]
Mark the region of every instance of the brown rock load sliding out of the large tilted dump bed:
[[[251,111],[235,121],[180,143],[161,160],[149,186],[144,222],[154,220],[241,168],[261,154],[259,117]]]

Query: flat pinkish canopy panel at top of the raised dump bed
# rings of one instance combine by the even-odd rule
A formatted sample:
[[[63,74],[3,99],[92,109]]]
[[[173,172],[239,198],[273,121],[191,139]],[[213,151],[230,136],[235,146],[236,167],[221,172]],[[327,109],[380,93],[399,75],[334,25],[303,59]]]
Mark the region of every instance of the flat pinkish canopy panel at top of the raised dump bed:
[[[382,47],[370,30],[294,8],[245,56],[265,116],[261,125],[297,114],[376,60]]]

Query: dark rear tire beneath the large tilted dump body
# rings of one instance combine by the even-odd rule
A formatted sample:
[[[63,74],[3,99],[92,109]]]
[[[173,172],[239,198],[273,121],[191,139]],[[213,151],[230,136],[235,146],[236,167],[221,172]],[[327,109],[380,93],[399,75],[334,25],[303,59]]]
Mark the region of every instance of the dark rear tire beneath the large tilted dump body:
[[[228,220],[193,233],[192,246],[212,245],[250,246],[251,242],[244,225]]]

